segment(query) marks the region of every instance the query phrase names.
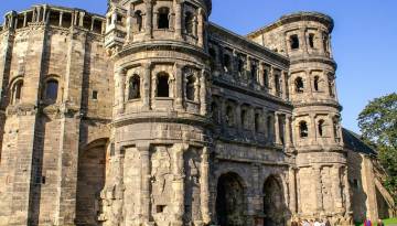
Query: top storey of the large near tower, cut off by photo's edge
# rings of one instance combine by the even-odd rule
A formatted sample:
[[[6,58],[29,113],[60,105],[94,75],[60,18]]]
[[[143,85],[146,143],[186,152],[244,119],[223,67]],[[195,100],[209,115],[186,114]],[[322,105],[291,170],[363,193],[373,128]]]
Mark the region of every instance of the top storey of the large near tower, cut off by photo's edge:
[[[110,0],[105,45],[120,50],[167,41],[203,49],[211,9],[211,0]]]

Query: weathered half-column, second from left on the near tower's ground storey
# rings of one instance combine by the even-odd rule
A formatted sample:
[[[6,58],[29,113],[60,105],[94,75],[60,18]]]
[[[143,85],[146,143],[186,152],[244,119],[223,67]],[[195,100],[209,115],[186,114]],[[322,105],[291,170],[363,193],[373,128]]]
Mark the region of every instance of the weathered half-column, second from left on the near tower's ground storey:
[[[140,196],[140,222],[143,225],[148,225],[151,219],[151,202],[150,202],[150,144],[140,143],[137,146],[137,149],[141,157],[141,196]]]

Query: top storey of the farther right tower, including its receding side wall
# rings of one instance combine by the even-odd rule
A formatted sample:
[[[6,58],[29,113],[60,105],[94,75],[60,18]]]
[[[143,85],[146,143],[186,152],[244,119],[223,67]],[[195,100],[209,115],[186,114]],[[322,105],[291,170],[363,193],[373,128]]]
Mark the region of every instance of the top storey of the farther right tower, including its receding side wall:
[[[307,57],[332,58],[332,18],[319,12],[298,12],[254,31],[248,39],[287,55],[292,61]]]

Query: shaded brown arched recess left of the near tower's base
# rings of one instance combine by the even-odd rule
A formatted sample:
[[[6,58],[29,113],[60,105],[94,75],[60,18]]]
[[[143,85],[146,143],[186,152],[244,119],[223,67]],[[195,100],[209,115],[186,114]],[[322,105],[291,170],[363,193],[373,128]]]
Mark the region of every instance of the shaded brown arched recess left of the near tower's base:
[[[78,155],[76,225],[96,226],[99,193],[106,177],[106,139],[92,142]]]

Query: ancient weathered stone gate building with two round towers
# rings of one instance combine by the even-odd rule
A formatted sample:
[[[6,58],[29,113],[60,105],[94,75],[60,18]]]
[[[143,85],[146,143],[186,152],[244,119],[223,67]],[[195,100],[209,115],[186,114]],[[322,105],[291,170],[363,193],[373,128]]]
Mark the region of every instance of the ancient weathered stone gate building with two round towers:
[[[240,36],[211,11],[211,0],[109,0],[105,17],[6,14],[0,226],[364,216],[352,212],[333,20],[299,12]]]

